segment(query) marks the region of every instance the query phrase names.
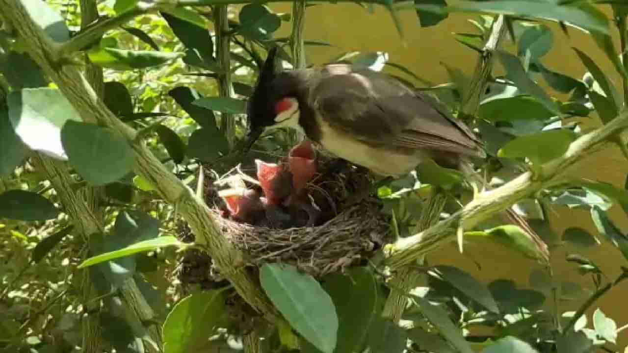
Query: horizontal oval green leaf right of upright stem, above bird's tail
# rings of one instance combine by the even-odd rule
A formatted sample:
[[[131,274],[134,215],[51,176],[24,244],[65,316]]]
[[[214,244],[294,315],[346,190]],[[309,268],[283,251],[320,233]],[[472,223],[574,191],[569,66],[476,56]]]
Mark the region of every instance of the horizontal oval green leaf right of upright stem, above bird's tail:
[[[539,120],[544,121],[556,116],[529,95],[517,95],[510,98],[489,100],[480,106],[478,112],[480,118],[490,122],[515,121],[515,120]]]

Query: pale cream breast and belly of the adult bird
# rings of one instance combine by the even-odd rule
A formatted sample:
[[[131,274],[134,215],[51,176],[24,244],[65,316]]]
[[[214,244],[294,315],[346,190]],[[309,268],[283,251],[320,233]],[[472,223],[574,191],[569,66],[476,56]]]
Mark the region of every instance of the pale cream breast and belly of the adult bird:
[[[425,153],[417,149],[392,148],[385,144],[367,143],[342,130],[332,128],[320,117],[320,143],[334,155],[355,165],[369,168],[382,176],[402,176],[426,159]]]

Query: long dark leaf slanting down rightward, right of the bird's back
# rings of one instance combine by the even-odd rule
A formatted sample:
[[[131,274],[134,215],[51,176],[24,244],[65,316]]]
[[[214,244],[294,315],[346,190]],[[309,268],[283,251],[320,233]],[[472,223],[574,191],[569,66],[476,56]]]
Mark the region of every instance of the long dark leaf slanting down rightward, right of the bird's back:
[[[508,3],[514,2],[507,1]],[[514,82],[517,87],[524,94],[529,94],[535,97],[543,106],[545,106],[549,111],[560,114],[560,109],[558,109],[558,104],[556,101],[551,99],[549,95],[539,87],[533,80],[528,77],[528,74],[521,66],[521,62],[519,58],[515,57],[506,52],[502,52],[501,50],[497,51],[497,57],[499,57],[502,65],[506,68],[506,77]]]

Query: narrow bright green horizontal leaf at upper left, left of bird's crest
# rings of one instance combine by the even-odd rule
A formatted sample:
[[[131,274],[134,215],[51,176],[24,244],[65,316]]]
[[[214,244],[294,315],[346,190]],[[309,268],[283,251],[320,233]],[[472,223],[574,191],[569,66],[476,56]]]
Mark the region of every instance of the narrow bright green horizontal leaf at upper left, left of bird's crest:
[[[185,56],[185,53],[156,52],[154,50],[123,50],[96,47],[87,52],[89,60],[100,67],[131,70],[161,65]]]

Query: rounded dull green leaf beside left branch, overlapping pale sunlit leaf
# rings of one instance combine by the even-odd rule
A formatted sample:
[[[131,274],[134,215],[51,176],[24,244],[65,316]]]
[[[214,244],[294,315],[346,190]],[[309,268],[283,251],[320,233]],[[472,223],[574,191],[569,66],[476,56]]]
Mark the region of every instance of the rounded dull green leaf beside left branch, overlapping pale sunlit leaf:
[[[92,185],[115,182],[135,164],[131,145],[108,128],[68,121],[61,130],[61,140],[70,165]]]

